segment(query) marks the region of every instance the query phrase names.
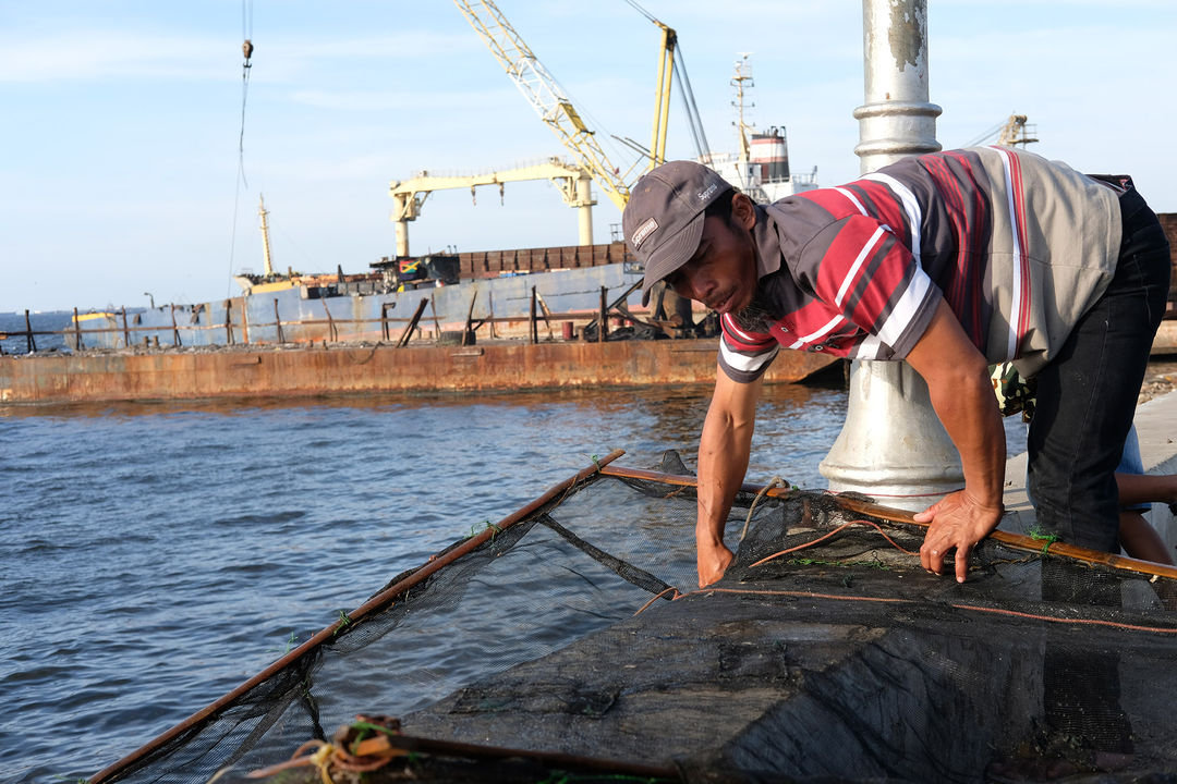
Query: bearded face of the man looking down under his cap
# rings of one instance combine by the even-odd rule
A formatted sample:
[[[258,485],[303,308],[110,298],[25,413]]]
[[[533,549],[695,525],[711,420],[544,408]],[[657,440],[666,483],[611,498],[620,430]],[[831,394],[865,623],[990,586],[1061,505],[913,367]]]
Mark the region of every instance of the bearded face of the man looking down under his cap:
[[[749,216],[754,225],[756,215],[740,208],[738,201],[733,207],[731,223],[717,215],[704,219],[698,250],[666,276],[666,284],[677,294],[697,300],[717,313],[742,310],[756,293],[756,246],[749,230],[751,226],[745,226]]]

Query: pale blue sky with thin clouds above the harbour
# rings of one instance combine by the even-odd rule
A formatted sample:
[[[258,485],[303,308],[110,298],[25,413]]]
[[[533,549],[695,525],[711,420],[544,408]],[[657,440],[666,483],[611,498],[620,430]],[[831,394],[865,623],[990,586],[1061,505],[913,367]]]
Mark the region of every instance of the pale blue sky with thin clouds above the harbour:
[[[645,143],[658,29],[624,0],[499,0],[601,136]],[[857,0],[644,0],[679,34],[710,146],[731,150],[732,63],[751,53],[760,127],[793,169],[858,174]],[[929,0],[931,100],[945,147],[1029,115],[1031,149],[1135,175],[1177,212],[1170,0]],[[241,40],[255,46],[241,130]],[[388,183],[564,150],[445,1],[0,0],[0,310],[200,302],[274,263],[367,270],[393,253]],[[671,154],[693,147],[676,98]],[[614,150],[610,148],[610,153]],[[617,154],[618,159],[624,155]],[[627,163],[629,161],[626,161]],[[619,213],[600,197],[596,240]],[[551,185],[437,192],[411,225],[425,253],[574,244]]]

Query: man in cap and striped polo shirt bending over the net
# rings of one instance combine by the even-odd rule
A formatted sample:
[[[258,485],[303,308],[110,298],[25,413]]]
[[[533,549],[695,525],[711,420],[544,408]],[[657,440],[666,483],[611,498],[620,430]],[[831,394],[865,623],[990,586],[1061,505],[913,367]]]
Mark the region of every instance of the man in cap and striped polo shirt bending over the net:
[[[759,206],[672,161],[638,181],[623,226],[644,290],[665,280],[723,324],[699,442],[700,587],[733,557],[724,527],[782,346],[905,360],[927,382],[965,485],[916,517],[930,523],[925,569],[940,574],[955,549],[963,582],[1000,521],[1005,436],[988,368],[1008,360],[1038,381],[1028,450],[1039,524],[1117,549],[1113,470],[1169,289],[1164,232],[1126,179],[971,148]]]

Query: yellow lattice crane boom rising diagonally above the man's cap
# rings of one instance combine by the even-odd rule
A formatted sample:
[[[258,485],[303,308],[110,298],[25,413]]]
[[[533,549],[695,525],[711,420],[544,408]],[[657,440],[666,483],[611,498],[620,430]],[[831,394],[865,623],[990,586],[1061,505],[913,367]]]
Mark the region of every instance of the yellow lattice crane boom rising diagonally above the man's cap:
[[[454,0],[466,21],[532,105],[560,143],[592,173],[593,180],[618,209],[625,209],[630,188],[620,169],[609,160],[592,130],[585,126],[572,101],[556,79],[519,36],[492,0]]]

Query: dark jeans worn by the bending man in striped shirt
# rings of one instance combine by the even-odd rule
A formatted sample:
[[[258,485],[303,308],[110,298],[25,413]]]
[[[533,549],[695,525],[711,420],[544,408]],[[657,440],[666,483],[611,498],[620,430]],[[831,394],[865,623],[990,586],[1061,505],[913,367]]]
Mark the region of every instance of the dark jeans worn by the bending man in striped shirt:
[[[1144,199],[1119,199],[1123,239],[1108,290],[1037,376],[1026,441],[1039,525],[1079,547],[1119,551],[1115,470],[1132,425],[1169,294],[1169,242]]]

